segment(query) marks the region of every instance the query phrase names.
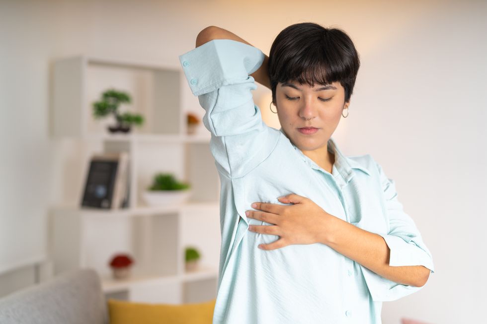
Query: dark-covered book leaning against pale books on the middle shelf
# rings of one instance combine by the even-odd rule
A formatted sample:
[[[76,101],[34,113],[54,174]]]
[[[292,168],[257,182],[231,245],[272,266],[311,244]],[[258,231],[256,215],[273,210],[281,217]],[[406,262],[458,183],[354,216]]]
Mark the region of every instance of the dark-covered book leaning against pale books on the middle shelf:
[[[102,209],[128,207],[129,155],[95,154],[89,162],[81,206]]]

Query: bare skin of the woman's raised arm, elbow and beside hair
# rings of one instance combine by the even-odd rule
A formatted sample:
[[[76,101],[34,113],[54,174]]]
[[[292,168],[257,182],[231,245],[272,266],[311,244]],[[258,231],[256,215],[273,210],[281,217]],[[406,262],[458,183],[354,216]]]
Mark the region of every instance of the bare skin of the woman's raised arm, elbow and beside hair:
[[[246,42],[239,36],[226,29],[217,26],[208,26],[200,31],[200,33],[196,37],[196,47],[201,46],[214,39],[231,39],[253,46],[252,44]],[[262,65],[260,65],[260,67],[255,72],[250,74],[250,76],[252,76],[258,83],[270,89],[269,72],[267,68],[268,62],[269,57],[267,55],[264,55],[264,61],[262,62]]]

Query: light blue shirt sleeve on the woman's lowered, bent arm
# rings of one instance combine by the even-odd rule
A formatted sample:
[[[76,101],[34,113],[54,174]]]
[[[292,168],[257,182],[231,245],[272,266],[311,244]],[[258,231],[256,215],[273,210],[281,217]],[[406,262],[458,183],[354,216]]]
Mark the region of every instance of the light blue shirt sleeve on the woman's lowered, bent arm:
[[[379,170],[381,186],[384,191],[385,207],[389,220],[388,233],[381,235],[391,250],[389,265],[423,265],[434,272],[433,259],[424,244],[412,218],[403,210],[398,200],[395,182],[388,179],[382,167],[376,163]],[[392,301],[412,294],[422,287],[403,285],[386,279],[377,273],[362,267],[365,281],[374,301]]]

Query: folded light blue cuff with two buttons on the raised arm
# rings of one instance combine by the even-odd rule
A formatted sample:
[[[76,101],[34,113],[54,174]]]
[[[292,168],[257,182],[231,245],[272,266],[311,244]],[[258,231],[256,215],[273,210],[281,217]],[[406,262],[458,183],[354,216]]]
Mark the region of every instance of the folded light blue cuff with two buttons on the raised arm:
[[[243,80],[264,61],[258,48],[231,39],[214,39],[179,56],[191,92],[212,92],[232,80]]]

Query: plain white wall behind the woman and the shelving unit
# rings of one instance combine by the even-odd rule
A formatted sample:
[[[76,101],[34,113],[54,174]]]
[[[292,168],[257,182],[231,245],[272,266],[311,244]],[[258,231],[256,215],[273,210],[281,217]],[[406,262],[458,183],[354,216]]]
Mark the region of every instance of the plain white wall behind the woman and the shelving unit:
[[[426,286],[384,303],[383,322],[479,323],[487,302],[485,1],[0,3],[0,223],[8,224],[0,228],[0,258],[16,229],[45,238],[47,206],[77,194],[64,192],[60,170],[85,148],[48,137],[53,59],[89,54],[178,66],[208,25],[268,54],[284,27],[314,21],[344,29],[361,54],[350,115],[335,133],[340,147],[381,163],[433,254],[436,272]],[[267,93],[259,87],[256,98]],[[184,104],[201,111],[190,94]],[[9,272],[0,294],[31,282],[30,270]]]

